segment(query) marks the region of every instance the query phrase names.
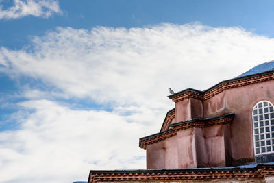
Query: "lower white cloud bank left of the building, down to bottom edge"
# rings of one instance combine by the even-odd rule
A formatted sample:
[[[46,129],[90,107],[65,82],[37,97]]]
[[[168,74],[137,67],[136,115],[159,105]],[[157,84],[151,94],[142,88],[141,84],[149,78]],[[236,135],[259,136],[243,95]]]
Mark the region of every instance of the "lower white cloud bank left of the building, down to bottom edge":
[[[35,112],[21,130],[0,133],[1,182],[73,182],[87,180],[90,169],[145,168],[138,138],[148,130],[128,123],[132,117],[47,100],[19,105]]]

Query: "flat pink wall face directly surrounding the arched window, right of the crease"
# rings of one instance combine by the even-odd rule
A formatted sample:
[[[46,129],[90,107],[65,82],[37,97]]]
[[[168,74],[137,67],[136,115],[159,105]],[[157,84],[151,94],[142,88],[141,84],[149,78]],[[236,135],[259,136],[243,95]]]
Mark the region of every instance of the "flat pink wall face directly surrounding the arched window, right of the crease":
[[[231,124],[232,158],[235,161],[253,160],[253,106],[258,101],[268,100],[273,103],[273,81],[251,84],[227,90],[227,110],[234,111]]]

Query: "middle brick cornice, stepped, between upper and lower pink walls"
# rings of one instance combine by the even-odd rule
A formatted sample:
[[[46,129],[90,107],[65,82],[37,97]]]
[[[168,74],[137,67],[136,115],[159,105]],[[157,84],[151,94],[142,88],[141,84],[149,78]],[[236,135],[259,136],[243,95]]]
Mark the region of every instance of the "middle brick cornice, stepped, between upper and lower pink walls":
[[[207,119],[191,119],[188,121],[181,121],[169,125],[169,130],[165,130],[158,134],[145,136],[139,139],[139,146],[142,149],[146,149],[147,145],[164,141],[166,138],[176,136],[180,130],[186,130],[192,127],[208,127],[212,125],[227,124],[234,118],[234,113],[225,114],[220,117],[207,118]]]

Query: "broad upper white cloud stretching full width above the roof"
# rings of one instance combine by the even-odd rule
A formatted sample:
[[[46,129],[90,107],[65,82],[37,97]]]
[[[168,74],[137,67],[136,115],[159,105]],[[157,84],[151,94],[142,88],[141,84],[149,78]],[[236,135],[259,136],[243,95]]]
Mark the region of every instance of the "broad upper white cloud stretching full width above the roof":
[[[34,37],[32,50],[2,47],[0,57],[1,71],[39,78],[64,95],[155,107],[169,102],[170,86],[203,90],[272,60],[273,46],[237,27],[58,28]]]

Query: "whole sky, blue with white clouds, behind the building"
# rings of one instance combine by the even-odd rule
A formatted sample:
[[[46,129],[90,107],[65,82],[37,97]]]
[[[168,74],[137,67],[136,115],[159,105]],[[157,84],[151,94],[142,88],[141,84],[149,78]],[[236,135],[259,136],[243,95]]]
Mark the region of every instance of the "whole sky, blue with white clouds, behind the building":
[[[145,169],[166,96],[274,60],[274,1],[0,0],[0,182]]]

